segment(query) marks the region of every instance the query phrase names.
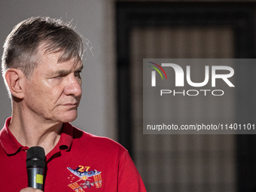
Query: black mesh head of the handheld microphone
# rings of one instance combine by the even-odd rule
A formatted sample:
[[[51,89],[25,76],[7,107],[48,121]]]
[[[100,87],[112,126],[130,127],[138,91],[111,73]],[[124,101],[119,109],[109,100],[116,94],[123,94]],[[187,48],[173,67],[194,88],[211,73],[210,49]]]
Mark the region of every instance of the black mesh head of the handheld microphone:
[[[26,154],[26,168],[38,167],[44,169],[45,153],[44,148],[35,146],[29,148]]]

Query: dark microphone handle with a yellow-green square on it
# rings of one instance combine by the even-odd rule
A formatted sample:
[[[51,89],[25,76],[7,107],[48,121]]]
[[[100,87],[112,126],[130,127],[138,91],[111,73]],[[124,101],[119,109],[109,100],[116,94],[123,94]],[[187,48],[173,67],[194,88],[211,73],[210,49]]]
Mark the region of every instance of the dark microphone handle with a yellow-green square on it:
[[[28,172],[28,187],[43,190],[44,169],[33,167],[26,170]]]

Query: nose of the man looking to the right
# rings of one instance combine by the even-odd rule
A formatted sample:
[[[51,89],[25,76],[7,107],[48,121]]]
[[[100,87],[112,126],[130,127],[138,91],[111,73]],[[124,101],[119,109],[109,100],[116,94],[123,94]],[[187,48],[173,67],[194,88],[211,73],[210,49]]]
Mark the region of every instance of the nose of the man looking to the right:
[[[66,86],[64,88],[64,94],[66,96],[81,96],[81,78],[76,78],[75,75],[69,75],[66,81]]]

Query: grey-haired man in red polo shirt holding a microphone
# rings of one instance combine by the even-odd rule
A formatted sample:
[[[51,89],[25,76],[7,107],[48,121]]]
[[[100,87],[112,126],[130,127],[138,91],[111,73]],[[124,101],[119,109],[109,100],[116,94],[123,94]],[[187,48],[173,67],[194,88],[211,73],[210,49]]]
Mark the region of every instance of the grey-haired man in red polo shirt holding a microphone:
[[[60,20],[36,17],[14,27],[5,41],[2,75],[12,117],[0,132],[0,190],[27,187],[26,151],[46,154],[44,191],[145,191],[122,146],[78,130],[83,63],[81,37]]]

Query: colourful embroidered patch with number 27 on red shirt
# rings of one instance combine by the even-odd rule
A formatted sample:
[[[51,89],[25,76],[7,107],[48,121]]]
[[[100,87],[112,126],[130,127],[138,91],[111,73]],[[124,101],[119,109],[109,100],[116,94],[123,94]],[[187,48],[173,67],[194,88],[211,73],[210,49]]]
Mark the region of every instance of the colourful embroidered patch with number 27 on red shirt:
[[[67,169],[72,173],[68,176],[70,181],[68,186],[75,192],[84,192],[84,189],[102,187],[102,172],[98,172],[96,169],[90,171],[90,166],[78,166],[76,169],[67,167]]]

